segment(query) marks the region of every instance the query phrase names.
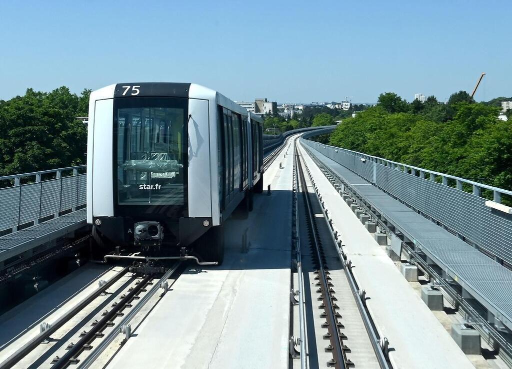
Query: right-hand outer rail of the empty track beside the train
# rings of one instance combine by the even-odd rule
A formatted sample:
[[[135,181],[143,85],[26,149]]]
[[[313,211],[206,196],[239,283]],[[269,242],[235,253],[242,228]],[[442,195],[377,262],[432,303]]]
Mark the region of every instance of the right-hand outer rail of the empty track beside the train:
[[[309,151],[308,151],[309,154]],[[313,162],[315,160],[313,159]],[[311,178],[311,174],[310,174]],[[328,219],[327,213],[325,209],[322,207],[322,214],[324,215],[325,219]],[[347,264],[347,261],[345,260],[345,256],[343,254],[343,251],[338,244],[338,240],[334,237],[333,232],[330,232],[333,242],[337,245],[337,254],[339,257],[340,262],[343,264],[343,269],[346,271],[347,280],[350,285],[350,290],[352,291],[352,294],[354,296],[357,308],[359,310],[359,313],[361,315],[362,321],[365,324],[365,329],[368,334],[368,337],[370,339],[370,342],[372,343],[372,348],[375,353],[375,356],[377,358],[377,361],[379,362],[379,366],[382,369],[389,369],[390,363],[388,362],[388,359],[386,358],[385,352],[383,352],[383,345],[385,344],[385,341],[387,341],[387,338],[382,338],[382,343],[380,342],[380,336],[375,332],[374,325],[372,323],[372,319],[370,318],[370,314],[366,309],[366,306],[364,304],[364,295],[361,294],[361,289],[357,285],[357,282],[355,280],[354,274],[352,273],[352,267],[351,265]]]

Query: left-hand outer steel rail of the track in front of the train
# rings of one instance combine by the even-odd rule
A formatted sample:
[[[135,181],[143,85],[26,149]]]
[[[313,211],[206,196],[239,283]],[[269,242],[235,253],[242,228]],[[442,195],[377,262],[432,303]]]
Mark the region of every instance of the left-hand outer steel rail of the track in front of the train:
[[[59,319],[53,322],[48,328],[39,333],[37,336],[32,338],[29,342],[25,343],[22,347],[20,347],[15,353],[13,353],[7,360],[0,364],[0,369],[8,369],[16,364],[19,360],[23,359],[27,356],[34,348],[36,348],[42,341],[50,338],[50,336],[55,333],[62,325],[68,322],[71,318],[73,318],[78,312],[80,312],[83,308],[89,305],[96,297],[98,297],[101,293],[105,292],[107,289],[112,286],[116,281],[118,281],[122,276],[124,276],[128,272],[128,268],[122,269],[118,274],[109,279],[105,284],[98,287],[95,291],[89,294],[86,298],[84,298],[78,305],[76,305],[73,309],[71,309],[66,314],[62,315]]]

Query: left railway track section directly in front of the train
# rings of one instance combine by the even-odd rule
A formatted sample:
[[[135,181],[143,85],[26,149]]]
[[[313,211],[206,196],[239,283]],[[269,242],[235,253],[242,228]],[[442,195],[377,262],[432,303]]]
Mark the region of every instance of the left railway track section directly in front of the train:
[[[183,270],[183,262],[175,263],[161,277],[131,274],[129,268],[123,268],[109,281],[100,281],[95,291],[57,321],[42,323],[40,334],[0,363],[0,369],[14,366],[60,369],[72,364],[77,368],[89,367],[118,335],[123,334],[123,341],[130,338],[131,322],[137,313],[144,306],[147,308],[150,300],[156,305]],[[123,282],[123,277],[127,281]],[[158,291],[161,295],[155,300]],[[92,318],[89,311],[94,312]],[[86,318],[75,324],[74,318],[81,314]],[[114,347],[111,354],[116,352]]]

